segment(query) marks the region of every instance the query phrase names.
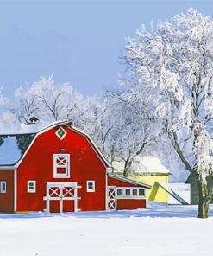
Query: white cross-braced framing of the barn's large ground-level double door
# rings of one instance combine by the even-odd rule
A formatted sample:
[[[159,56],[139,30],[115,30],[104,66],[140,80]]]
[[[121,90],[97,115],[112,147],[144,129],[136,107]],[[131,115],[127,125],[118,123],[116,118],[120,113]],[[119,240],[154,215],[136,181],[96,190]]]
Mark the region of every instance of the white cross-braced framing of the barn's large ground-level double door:
[[[55,189],[52,194],[49,194],[49,189],[51,187],[58,187],[58,189]],[[70,190],[67,190],[67,193],[72,195],[70,197],[65,197],[63,195],[63,189],[71,187],[74,189],[74,194],[72,195]],[[78,186],[77,182],[47,182],[46,186],[46,197],[44,200],[46,200],[46,209],[47,212],[50,212],[50,201],[60,201],[60,213],[63,213],[63,201],[66,200],[74,200],[74,212],[78,211]],[[55,196],[54,196],[55,195]]]

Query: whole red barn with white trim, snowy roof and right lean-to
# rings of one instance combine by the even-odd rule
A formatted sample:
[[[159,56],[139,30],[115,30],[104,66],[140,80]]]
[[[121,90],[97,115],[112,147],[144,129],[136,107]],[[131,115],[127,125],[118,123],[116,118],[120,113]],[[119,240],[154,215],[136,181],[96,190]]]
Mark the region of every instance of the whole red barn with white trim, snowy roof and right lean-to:
[[[55,122],[0,135],[0,212],[51,213],[146,208],[150,186],[110,173],[90,136]]]

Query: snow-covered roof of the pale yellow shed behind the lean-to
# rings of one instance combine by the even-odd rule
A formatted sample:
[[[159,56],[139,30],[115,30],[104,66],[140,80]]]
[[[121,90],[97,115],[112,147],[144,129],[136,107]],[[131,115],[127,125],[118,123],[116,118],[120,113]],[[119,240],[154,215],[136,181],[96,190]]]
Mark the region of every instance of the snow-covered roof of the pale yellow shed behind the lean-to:
[[[169,170],[160,162],[157,157],[136,157],[131,169],[135,173],[160,173],[169,174]]]

